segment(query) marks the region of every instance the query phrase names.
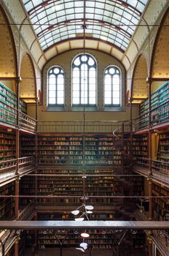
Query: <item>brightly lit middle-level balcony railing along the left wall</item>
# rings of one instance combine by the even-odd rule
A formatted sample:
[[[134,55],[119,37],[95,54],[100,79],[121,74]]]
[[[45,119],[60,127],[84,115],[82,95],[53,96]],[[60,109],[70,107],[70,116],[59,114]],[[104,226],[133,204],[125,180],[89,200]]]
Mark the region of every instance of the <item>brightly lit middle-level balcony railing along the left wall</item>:
[[[0,161],[0,184],[16,176],[17,159]],[[19,174],[23,176],[35,168],[35,157],[22,157],[19,159]]]

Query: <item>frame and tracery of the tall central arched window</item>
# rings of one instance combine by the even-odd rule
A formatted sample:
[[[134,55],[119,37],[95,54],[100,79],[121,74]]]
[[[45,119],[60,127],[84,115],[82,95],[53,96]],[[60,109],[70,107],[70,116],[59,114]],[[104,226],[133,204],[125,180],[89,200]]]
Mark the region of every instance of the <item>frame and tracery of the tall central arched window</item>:
[[[85,102],[82,102],[82,83],[81,83],[81,75],[79,74],[79,103],[73,103],[74,101],[74,67],[77,67],[76,65],[74,65],[74,61],[79,57],[79,56],[87,56],[88,58],[91,58],[93,59],[94,61],[94,64],[93,65],[89,65],[87,64],[87,103]],[[85,61],[84,61],[85,63]],[[79,67],[82,67],[82,64],[83,62],[81,61],[81,63],[79,64]],[[89,94],[90,94],[90,90],[89,90],[89,87],[90,87],[90,83],[89,83],[89,79],[90,79],[90,76],[89,76],[89,71],[90,71],[90,68],[89,67],[94,67],[95,68],[95,103],[90,103],[90,97]],[[79,69],[79,73],[81,73],[81,68]],[[95,57],[90,54],[90,53],[79,53],[77,54],[76,56],[74,56],[74,59],[71,61],[71,106],[74,108],[76,107],[82,107],[82,106],[85,106],[85,107],[95,107],[98,105],[98,64],[97,64],[97,61],[95,59]]]

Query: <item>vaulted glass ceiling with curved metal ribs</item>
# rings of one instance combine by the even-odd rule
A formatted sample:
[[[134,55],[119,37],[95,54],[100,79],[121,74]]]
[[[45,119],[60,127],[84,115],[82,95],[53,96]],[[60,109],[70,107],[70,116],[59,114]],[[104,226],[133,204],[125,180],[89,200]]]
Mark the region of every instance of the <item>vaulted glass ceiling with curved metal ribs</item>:
[[[148,0],[22,0],[43,50],[61,41],[103,40],[125,50]]]

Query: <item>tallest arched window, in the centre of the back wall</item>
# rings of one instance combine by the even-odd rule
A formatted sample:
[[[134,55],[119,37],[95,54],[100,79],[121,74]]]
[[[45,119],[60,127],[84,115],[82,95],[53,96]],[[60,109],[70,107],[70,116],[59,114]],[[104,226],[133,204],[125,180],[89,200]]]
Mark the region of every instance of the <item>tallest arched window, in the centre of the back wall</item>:
[[[72,105],[96,104],[96,62],[89,54],[76,56],[72,63]]]

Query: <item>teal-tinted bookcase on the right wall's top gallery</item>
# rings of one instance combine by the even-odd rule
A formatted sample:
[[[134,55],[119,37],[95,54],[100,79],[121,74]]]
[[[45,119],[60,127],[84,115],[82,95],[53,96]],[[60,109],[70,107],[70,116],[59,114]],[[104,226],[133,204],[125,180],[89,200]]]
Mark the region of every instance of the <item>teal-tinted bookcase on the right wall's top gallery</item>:
[[[169,120],[169,82],[164,83],[151,95],[151,123],[152,126]],[[149,99],[145,99],[140,105],[140,129],[147,128],[149,122]]]

